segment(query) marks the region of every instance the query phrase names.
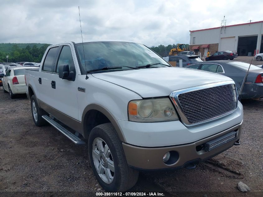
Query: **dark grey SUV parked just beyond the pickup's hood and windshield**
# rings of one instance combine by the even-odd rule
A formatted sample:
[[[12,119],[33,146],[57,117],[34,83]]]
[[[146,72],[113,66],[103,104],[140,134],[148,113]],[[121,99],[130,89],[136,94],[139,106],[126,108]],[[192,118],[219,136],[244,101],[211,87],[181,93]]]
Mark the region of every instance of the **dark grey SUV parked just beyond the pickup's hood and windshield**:
[[[172,66],[179,67],[179,60],[182,59],[183,67],[195,62],[203,62],[198,55],[172,55],[163,58],[165,61],[169,62]]]

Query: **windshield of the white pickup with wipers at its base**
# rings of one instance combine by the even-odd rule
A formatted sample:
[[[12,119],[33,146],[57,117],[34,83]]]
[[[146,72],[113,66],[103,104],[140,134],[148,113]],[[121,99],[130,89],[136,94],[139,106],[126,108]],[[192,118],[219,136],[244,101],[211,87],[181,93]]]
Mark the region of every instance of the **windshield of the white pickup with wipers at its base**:
[[[131,42],[90,42],[76,44],[77,56],[82,66],[82,74],[85,73],[85,61],[87,71],[110,66],[138,67],[151,63],[167,64],[159,55],[146,46]],[[85,60],[84,60],[85,55]],[[155,65],[154,67],[166,67]],[[125,68],[123,69],[130,69]]]

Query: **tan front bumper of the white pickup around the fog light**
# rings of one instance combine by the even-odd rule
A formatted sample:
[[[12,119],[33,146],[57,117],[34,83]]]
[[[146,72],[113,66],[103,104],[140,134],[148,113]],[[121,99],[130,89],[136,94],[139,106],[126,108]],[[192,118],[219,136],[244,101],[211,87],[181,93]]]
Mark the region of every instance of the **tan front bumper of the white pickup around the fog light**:
[[[193,160],[205,160],[206,158],[215,156],[227,150],[228,148],[232,147],[234,143],[240,138],[242,131],[242,123],[243,122],[225,131],[222,131],[218,134],[214,134],[210,137],[189,144],[150,148],[150,147],[138,147],[127,143],[122,143],[125,157],[129,166],[140,168],[140,169],[153,170],[153,169],[183,167],[187,162]],[[204,150],[196,151],[196,146],[204,144],[216,138],[219,138],[232,131],[237,132],[236,140],[232,140],[228,143],[225,143],[211,151],[204,151]],[[176,151],[179,153],[179,159],[177,160],[177,162],[171,165],[167,165],[162,161],[164,154],[169,151]]]

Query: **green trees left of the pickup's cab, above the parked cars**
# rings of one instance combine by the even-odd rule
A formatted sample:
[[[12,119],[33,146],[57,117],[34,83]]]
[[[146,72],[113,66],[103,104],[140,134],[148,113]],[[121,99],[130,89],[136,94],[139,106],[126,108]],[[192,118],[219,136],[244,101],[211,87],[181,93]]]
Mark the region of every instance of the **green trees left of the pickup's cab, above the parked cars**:
[[[45,50],[50,44],[27,45],[25,48],[19,47],[19,44],[13,44],[10,52],[6,52],[2,49],[0,51],[0,62],[7,62],[6,56],[8,55],[8,62],[41,62]]]

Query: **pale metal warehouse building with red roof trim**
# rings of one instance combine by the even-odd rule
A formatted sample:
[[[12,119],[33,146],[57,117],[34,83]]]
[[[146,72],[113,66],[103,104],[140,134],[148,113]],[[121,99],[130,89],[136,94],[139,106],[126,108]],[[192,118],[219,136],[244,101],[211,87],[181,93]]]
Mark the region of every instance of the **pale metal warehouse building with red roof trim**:
[[[206,56],[216,51],[233,51],[238,56],[253,56],[263,53],[263,21],[237,25],[214,27],[202,30],[190,30],[190,50]]]

